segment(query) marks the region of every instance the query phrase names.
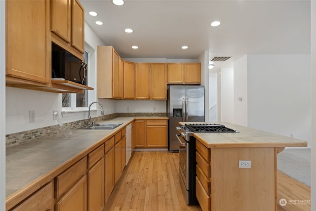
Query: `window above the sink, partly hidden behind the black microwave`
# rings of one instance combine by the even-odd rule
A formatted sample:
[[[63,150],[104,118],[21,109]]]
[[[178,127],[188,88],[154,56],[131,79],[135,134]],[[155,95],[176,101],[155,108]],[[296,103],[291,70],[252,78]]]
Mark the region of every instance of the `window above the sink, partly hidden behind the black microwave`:
[[[88,52],[84,51],[83,62],[88,65]],[[87,78],[87,83],[88,83]],[[75,110],[77,108],[88,107],[88,90],[84,90],[83,93],[63,93],[62,96],[63,110]]]

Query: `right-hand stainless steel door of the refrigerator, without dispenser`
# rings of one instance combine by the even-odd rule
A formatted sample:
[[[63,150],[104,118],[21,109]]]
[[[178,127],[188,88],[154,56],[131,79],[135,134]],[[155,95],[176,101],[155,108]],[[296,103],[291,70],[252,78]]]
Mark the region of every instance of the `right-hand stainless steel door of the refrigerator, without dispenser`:
[[[185,86],[186,122],[204,122],[204,86]]]

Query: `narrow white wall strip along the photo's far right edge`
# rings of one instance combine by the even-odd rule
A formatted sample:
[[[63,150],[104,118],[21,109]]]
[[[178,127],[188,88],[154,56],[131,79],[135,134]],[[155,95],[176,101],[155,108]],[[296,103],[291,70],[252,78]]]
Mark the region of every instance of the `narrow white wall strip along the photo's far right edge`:
[[[311,70],[312,70],[312,128],[316,128],[316,1],[311,1]],[[316,130],[312,130],[311,138],[311,211],[316,210]]]

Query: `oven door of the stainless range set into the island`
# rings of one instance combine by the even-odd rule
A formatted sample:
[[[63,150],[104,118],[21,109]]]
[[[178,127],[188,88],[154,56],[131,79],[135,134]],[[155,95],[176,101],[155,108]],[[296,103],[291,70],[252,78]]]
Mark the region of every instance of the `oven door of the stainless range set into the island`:
[[[179,140],[179,173],[185,184],[187,190],[189,190],[189,175],[188,175],[188,151],[189,143],[180,136],[176,135]]]

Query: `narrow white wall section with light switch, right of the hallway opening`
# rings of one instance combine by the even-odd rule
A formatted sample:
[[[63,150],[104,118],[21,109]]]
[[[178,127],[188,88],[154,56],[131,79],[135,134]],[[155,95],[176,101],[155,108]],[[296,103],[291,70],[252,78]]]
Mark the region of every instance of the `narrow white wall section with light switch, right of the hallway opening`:
[[[237,125],[247,126],[247,98],[247,55],[244,55],[234,61],[234,123]]]

